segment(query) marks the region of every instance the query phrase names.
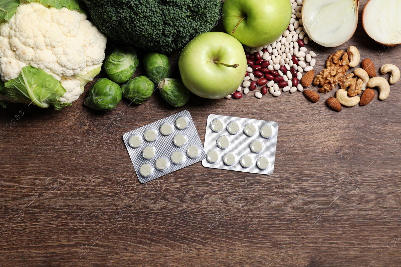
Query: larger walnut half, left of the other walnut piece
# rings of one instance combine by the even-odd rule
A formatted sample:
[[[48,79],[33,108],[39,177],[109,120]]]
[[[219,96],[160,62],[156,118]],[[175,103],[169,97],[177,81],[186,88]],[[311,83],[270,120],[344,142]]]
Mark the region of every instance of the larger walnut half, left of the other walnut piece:
[[[342,80],[342,77],[344,77],[345,72],[349,69],[348,54],[347,52],[342,54],[343,52],[343,50],[339,50],[334,54],[331,54],[326,60],[326,68],[316,75],[313,84],[322,86],[322,88],[319,89],[319,92],[327,93],[334,89],[334,87]]]

